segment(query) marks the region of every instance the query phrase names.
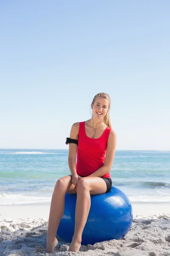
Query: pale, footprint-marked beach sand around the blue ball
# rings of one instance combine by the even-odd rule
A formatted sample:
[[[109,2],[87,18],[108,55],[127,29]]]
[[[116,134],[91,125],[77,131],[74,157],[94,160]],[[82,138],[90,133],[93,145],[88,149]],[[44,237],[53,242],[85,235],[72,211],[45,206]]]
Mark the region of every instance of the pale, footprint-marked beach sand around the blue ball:
[[[54,255],[170,256],[170,204],[133,203],[133,223],[121,240],[68,252],[59,239]],[[0,206],[0,256],[50,256],[45,252],[50,204]]]

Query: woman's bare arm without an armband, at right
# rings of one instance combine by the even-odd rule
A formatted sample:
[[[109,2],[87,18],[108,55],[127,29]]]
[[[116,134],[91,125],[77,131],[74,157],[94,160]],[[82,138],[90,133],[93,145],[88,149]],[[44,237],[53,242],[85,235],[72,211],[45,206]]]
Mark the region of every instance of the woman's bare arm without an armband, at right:
[[[106,152],[104,165],[98,170],[96,170],[94,173],[89,175],[88,177],[102,177],[106,173],[110,172],[113,164],[113,160],[114,160],[115,151],[116,151],[116,132],[114,130],[111,130],[108,137],[107,152]]]

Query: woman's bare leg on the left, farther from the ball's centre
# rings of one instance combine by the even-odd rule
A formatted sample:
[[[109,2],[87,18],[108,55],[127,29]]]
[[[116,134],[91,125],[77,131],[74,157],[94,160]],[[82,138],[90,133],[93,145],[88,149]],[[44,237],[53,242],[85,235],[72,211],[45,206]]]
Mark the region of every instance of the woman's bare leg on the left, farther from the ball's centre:
[[[58,244],[56,233],[59,226],[59,222],[64,213],[65,193],[76,193],[76,191],[74,191],[74,188],[75,186],[71,183],[71,175],[62,177],[56,182],[51,199],[51,207],[48,220],[46,247],[47,253],[54,253],[54,247],[56,247]]]

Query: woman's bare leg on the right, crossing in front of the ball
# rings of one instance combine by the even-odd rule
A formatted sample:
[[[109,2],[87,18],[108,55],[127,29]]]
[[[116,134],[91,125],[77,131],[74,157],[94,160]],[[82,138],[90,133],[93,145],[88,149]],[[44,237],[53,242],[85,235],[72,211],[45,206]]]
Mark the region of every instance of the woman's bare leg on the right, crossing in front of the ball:
[[[84,177],[77,183],[75,230],[69,251],[78,252],[91,206],[90,195],[104,194],[107,186],[100,177]]]

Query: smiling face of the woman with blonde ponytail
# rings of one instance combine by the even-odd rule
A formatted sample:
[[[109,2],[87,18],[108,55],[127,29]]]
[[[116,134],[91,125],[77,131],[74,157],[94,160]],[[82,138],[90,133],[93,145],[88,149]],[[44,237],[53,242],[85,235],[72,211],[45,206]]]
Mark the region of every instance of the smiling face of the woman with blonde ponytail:
[[[93,115],[96,116],[98,119],[103,119],[104,116],[107,114],[108,104],[108,99],[97,97],[94,102],[94,105],[92,105]]]

